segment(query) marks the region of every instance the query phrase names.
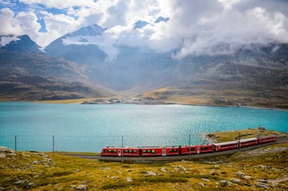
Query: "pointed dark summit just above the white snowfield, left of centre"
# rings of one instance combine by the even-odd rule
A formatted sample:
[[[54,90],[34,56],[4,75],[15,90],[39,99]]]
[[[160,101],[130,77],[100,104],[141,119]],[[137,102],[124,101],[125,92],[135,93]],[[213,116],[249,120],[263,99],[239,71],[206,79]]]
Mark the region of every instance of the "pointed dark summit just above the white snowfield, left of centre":
[[[97,36],[97,35],[102,35],[106,31],[106,28],[102,28],[101,26],[97,24],[89,25],[80,28],[78,31],[75,31],[73,33],[68,33],[65,35],[65,37],[74,37],[74,36],[79,36],[79,35],[90,35],[90,36]]]

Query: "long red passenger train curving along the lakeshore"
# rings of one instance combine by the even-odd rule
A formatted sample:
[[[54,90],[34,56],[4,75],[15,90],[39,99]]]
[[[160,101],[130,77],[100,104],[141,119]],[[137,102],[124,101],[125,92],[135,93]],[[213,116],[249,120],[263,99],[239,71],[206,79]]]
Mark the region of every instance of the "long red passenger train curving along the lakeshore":
[[[101,156],[182,156],[189,154],[209,153],[216,151],[227,151],[242,147],[250,147],[255,144],[275,142],[276,136],[261,138],[248,138],[230,142],[219,142],[214,144],[189,145],[189,146],[168,146],[168,147],[104,147]]]

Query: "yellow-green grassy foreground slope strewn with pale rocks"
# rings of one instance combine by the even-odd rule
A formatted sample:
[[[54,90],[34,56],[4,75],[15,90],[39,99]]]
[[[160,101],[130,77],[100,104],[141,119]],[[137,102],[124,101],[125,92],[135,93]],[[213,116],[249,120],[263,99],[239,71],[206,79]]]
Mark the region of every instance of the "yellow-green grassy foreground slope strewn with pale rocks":
[[[223,134],[216,133],[219,139]],[[237,135],[230,132],[233,138]],[[281,143],[231,156],[125,164],[0,147],[0,189],[285,190],[287,149]]]

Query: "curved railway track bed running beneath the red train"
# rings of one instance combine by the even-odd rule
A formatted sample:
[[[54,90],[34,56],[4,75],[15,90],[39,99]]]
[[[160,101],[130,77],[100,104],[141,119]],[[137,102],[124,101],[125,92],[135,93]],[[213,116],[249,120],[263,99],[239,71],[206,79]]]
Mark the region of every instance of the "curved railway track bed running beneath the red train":
[[[168,163],[173,161],[179,160],[191,160],[197,158],[207,158],[207,157],[214,157],[214,156],[221,156],[227,154],[237,153],[238,151],[248,151],[252,149],[257,149],[260,147],[265,147],[271,144],[279,144],[283,142],[288,142],[288,138],[281,138],[277,140],[277,142],[269,142],[265,144],[257,144],[250,147],[243,147],[239,149],[232,149],[228,151],[218,151],[213,153],[200,153],[200,154],[192,154],[186,156],[145,156],[145,157],[118,157],[118,156],[94,156],[94,155],[86,155],[86,154],[74,154],[74,153],[63,153],[67,156],[77,156],[81,158],[88,158],[94,160],[101,160],[106,162],[123,162],[123,163]]]

